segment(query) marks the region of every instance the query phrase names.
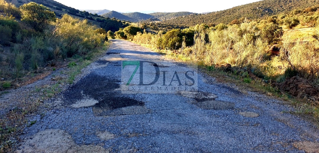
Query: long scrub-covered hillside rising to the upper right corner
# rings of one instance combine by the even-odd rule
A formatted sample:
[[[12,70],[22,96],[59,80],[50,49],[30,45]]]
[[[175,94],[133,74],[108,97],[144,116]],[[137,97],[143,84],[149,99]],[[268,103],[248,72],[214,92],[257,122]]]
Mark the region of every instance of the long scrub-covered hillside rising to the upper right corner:
[[[196,24],[229,23],[234,19],[259,19],[264,16],[275,15],[294,9],[307,8],[319,4],[318,0],[263,0],[240,5],[231,9],[207,14],[192,14],[163,21],[166,24],[193,26]],[[151,13],[152,15],[153,13]]]

